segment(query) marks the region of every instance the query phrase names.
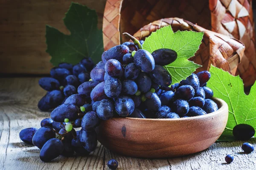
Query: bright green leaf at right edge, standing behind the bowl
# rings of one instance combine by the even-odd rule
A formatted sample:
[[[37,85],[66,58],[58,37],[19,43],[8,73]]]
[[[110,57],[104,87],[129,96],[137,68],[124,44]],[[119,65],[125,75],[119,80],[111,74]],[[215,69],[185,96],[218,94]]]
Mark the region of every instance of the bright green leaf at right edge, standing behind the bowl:
[[[250,94],[244,94],[244,84],[239,76],[232,76],[227,71],[211,66],[211,78],[207,86],[212,89],[214,96],[227,102],[229,115],[227,126],[219,140],[233,141],[233,127],[238,124],[251,125],[256,129],[256,83]]]

